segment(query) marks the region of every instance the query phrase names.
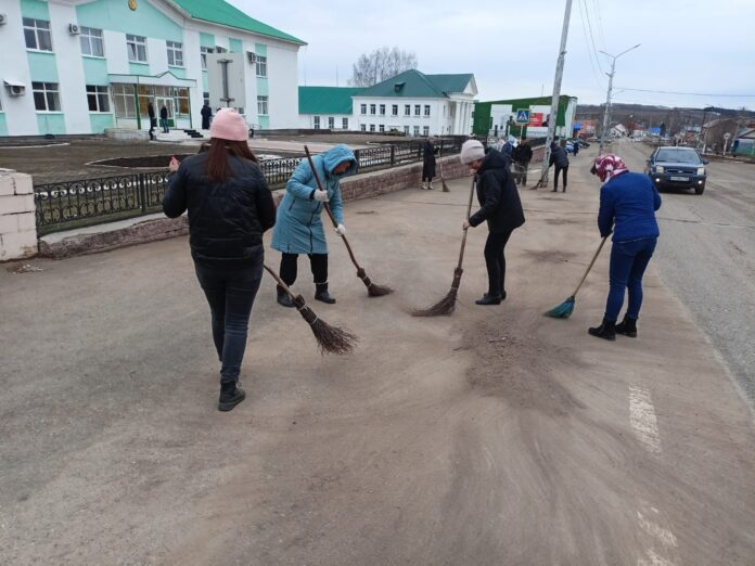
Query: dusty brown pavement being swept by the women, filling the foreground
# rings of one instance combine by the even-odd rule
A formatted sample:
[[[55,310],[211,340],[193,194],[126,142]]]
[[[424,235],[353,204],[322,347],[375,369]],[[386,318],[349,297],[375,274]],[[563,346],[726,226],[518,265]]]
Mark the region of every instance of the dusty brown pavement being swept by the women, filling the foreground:
[[[587,335],[607,253],[541,316],[599,242],[590,155],[566,194],[521,191],[500,307],[470,232],[450,318],[408,311],[450,288],[470,180],[349,203],[397,292],[368,298],[330,237],[338,303],[311,306],[361,343],[322,358],[266,278],[227,414],[185,237],[0,269],[0,562],[752,564],[752,416],[652,263],[635,340]]]

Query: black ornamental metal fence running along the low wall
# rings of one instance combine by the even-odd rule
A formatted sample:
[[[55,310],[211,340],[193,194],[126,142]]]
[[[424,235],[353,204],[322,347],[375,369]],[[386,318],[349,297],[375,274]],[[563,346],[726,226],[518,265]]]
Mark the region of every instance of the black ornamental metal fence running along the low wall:
[[[440,156],[461,151],[464,138],[439,139]],[[357,172],[422,160],[423,141],[355,150]],[[303,157],[265,159],[259,167],[270,189],[285,185]],[[167,186],[165,170],[39,184],[34,188],[39,235],[155,213]]]

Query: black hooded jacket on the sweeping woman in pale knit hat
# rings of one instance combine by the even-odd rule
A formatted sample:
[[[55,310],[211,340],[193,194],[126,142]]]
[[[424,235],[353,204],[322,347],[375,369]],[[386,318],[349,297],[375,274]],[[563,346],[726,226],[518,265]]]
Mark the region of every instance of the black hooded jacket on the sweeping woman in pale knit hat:
[[[477,201],[481,209],[470,217],[471,226],[487,220],[494,233],[510,232],[524,223],[522,202],[509,171],[509,160],[489,150],[477,170]]]

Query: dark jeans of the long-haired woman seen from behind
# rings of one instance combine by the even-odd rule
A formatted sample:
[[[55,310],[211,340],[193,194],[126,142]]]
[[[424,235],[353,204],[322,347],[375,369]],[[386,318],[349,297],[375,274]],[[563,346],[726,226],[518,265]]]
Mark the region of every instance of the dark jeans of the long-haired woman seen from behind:
[[[249,267],[230,269],[194,263],[213,319],[213,340],[220,359],[220,383],[238,382],[244,360],[252,305],[263,280],[263,254]]]

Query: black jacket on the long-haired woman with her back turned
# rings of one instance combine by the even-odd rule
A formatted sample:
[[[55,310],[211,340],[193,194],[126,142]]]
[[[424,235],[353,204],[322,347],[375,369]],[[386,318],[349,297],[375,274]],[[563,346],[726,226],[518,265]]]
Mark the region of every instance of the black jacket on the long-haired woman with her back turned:
[[[177,218],[189,210],[189,243],[194,261],[244,267],[263,254],[263,233],[276,223],[276,205],[256,163],[231,156],[232,176],[210,182],[207,153],[181,162],[168,176],[163,211]]]

